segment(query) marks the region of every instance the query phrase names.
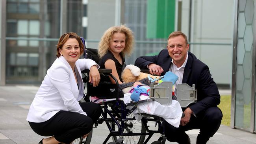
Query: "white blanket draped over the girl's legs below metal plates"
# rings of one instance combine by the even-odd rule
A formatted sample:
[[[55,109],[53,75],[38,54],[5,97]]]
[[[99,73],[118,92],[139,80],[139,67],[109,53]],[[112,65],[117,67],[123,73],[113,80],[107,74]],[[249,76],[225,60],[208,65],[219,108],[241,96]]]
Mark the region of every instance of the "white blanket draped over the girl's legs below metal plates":
[[[130,103],[132,100],[130,98],[131,93],[124,94],[124,103]],[[146,100],[148,96],[140,96],[139,100]],[[176,100],[172,100],[171,105],[161,105],[156,101],[139,103],[137,108],[140,113],[147,113],[156,116],[160,116],[166,120],[169,124],[174,127],[180,126],[180,119],[182,116],[182,109],[180,103]],[[135,115],[135,119],[140,121],[141,115],[138,110],[135,109],[132,113]]]

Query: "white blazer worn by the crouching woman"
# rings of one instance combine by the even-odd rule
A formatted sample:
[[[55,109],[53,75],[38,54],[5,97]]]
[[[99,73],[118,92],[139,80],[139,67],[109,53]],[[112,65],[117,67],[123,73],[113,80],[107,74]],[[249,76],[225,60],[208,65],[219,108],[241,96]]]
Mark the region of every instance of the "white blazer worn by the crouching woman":
[[[81,70],[90,69],[91,66],[100,66],[91,59],[78,59],[75,72],[78,73],[78,85],[67,60],[60,56],[47,70],[47,74],[35,94],[30,105],[27,120],[29,122],[45,122],[58,113],[70,111],[86,115],[78,104],[83,97],[83,81]]]

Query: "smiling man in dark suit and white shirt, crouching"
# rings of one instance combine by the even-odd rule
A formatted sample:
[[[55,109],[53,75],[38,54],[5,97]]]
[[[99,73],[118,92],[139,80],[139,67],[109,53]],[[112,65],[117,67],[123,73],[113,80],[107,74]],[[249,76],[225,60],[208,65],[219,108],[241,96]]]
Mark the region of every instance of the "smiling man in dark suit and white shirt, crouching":
[[[166,121],[163,121],[163,125],[167,140],[171,142],[190,144],[190,138],[185,131],[200,129],[197,144],[206,144],[221,125],[223,115],[217,107],[220,103],[220,95],[208,66],[188,52],[188,49],[186,35],[180,31],[174,31],[168,37],[167,50],[161,50],[155,56],[138,57],[135,66],[149,69],[151,74],[158,76],[172,71],[179,77],[176,85],[187,83],[192,87],[195,84],[198,102],[183,110],[185,117],[181,119],[180,127],[171,126]]]

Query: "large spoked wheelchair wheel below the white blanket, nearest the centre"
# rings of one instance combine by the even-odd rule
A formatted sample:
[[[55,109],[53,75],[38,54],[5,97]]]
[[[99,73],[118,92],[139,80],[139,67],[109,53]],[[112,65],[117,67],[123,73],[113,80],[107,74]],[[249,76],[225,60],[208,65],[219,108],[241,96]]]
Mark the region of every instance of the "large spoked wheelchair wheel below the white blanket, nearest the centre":
[[[145,133],[146,127],[142,123],[142,121],[138,122],[134,118],[134,114],[130,114],[127,116],[128,121],[124,123],[124,132],[123,133]],[[112,124],[112,129],[117,130],[117,125]],[[145,140],[145,135],[134,135],[134,136],[124,136],[123,143],[124,144],[143,144]],[[116,142],[118,136],[112,136],[112,140]]]

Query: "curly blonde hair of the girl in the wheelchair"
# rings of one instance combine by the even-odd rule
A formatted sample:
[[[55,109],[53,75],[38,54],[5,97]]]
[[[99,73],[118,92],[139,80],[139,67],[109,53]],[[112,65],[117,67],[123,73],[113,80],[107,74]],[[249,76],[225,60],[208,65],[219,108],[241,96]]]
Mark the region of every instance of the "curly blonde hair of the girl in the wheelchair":
[[[110,41],[112,40],[114,33],[124,33],[126,37],[125,48],[121,52],[121,55],[124,57],[124,55],[129,56],[132,54],[133,44],[134,44],[134,36],[132,34],[132,30],[130,30],[130,28],[126,27],[125,25],[112,26],[105,31],[105,33],[100,39],[100,42],[98,45],[98,56],[100,58],[102,58],[105,54],[107,54],[108,49],[110,47]]]

